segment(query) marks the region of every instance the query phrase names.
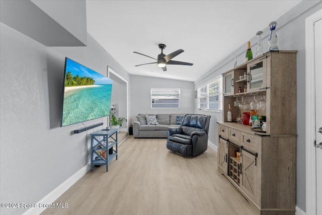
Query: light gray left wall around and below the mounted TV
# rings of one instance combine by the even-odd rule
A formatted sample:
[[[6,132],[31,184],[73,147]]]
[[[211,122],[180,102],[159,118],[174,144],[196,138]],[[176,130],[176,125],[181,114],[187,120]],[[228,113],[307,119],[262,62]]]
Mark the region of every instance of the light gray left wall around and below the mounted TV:
[[[0,23],[1,202],[37,203],[87,165],[88,134],[106,126],[107,117],[84,122],[104,122],[88,134],[73,134],[82,123],[59,127],[64,59],[103,75],[110,65],[129,79],[91,35],[87,38],[87,47],[46,47]],[[1,208],[0,213],[26,210]]]

